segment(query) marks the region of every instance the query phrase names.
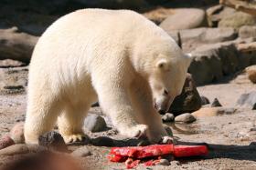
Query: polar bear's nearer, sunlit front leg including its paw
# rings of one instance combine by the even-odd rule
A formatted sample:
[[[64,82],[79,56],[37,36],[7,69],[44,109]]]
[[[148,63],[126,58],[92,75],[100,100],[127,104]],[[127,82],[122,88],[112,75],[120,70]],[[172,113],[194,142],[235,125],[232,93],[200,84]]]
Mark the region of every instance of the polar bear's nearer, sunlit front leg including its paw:
[[[93,79],[93,86],[98,94],[101,109],[112,119],[121,135],[127,137],[143,137],[146,135],[147,125],[138,124],[133,108],[126,92],[126,86],[118,78],[104,75],[104,79]],[[95,75],[95,77],[102,77]],[[105,80],[105,81],[104,81]]]

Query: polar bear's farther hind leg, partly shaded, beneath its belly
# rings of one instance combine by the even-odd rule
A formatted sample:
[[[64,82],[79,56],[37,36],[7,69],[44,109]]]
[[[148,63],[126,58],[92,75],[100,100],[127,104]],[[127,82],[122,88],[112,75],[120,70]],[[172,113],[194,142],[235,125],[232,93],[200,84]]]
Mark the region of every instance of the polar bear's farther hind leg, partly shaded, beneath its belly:
[[[66,143],[81,142],[86,135],[82,130],[85,115],[90,106],[67,105],[58,118],[59,133]]]

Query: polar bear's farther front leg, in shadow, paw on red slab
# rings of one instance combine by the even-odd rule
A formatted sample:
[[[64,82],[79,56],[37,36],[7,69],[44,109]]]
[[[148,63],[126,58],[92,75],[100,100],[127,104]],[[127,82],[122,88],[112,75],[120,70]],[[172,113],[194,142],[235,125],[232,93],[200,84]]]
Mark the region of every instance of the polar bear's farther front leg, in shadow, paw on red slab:
[[[167,135],[161,116],[154,108],[150,88],[145,83],[134,83],[130,95],[139,122],[148,126],[146,135],[149,141],[153,144],[174,143],[173,136]]]

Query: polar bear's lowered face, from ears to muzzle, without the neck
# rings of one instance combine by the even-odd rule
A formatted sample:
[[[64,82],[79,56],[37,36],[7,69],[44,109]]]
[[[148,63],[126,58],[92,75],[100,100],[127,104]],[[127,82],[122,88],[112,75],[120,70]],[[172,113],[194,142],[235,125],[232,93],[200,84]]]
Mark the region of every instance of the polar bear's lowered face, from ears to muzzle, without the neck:
[[[156,58],[154,72],[148,80],[155,109],[160,114],[165,114],[176,95],[181,94],[190,61],[190,56],[182,53],[175,57],[160,54]]]

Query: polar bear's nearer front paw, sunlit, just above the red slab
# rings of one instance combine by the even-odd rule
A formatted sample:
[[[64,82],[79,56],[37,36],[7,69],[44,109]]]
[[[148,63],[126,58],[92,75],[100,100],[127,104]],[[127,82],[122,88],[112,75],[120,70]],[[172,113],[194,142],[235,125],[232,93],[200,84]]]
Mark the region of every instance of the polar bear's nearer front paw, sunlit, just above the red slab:
[[[134,125],[130,128],[125,128],[121,131],[122,135],[126,135],[128,137],[137,137],[137,138],[145,138],[147,125]]]

